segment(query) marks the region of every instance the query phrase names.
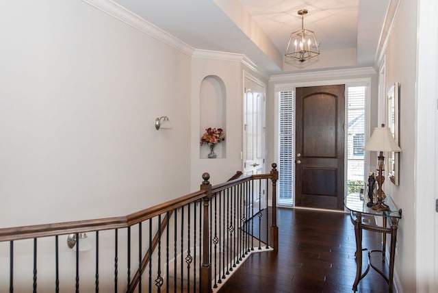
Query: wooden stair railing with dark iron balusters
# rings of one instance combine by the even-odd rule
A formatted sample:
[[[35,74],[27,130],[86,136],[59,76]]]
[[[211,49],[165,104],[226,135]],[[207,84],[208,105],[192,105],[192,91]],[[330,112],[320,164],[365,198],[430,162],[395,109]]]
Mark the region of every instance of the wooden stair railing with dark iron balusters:
[[[276,164],[269,174],[217,186],[211,186],[205,173],[198,192],[127,216],[0,229],[0,264],[8,264],[0,266],[0,292],[79,292],[79,285],[84,292],[133,292],[133,283],[138,292],[211,292],[224,279],[221,274],[228,275],[245,255],[257,251],[257,239],[259,249],[263,237],[266,249],[278,248],[277,179]],[[263,214],[268,209],[262,212],[259,205],[257,211],[250,200],[257,192],[260,196],[263,180],[272,181],[269,218]],[[266,220],[264,236],[261,218]],[[86,239],[81,236],[86,233],[94,243],[83,251]],[[70,235],[73,253],[62,245]],[[219,257],[212,255],[215,249]],[[137,278],[131,269],[140,272]]]

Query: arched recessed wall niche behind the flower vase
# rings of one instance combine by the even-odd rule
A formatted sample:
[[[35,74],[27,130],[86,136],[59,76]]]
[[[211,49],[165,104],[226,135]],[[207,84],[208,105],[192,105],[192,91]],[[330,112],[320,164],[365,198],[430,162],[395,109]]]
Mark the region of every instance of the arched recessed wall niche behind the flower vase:
[[[225,88],[224,81],[216,75],[204,77],[203,81],[201,81],[199,99],[199,138],[203,136],[205,129],[208,127],[224,129],[225,140],[216,144],[214,152],[218,155],[217,158],[227,157],[227,89]],[[208,146],[200,146],[199,157],[205,159],[209,152]]]

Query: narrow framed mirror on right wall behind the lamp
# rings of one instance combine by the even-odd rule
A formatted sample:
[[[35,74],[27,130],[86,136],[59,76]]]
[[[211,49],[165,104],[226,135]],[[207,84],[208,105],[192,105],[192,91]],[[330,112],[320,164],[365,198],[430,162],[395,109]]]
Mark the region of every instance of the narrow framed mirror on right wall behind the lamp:
[[[387,93],[388,103],[388,120],[387,126],[391,129],[391,133],[394,136],[398,144],[398,126],[399,126],[399,110],[398,110],[398,82],[396,82]],[[392,183],[398,185],[398,153],[389,152],[387,155],[387,170],[389,180]]]

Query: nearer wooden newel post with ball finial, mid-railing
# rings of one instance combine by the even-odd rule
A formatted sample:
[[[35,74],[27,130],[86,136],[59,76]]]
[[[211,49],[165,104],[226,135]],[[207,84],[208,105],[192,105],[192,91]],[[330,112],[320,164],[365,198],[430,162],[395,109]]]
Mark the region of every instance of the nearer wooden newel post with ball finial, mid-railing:
[[[211,184],[208,181],[210,179],[209,173],[204,173],[203,179],[201,190],[205,191],[205,197],[203,198],[203,264],[201,266],[201,292],[212,292],[211,264],[209,263],[209,201],[211,199]]]

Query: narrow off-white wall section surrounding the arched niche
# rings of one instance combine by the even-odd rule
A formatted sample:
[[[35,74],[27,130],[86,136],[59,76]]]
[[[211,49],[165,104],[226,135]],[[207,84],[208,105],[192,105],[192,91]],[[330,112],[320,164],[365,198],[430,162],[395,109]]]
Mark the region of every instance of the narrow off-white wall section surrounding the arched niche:
[[[215,58],[215,59],[214,59]],[[210,183],[215,185],[227,181],[237,170],[242,170],[242,113],[243,113],[243,71],[242,55],[197,51],[192,59],[192,114],[191,114],[191,189],[198,190],[202,175],[210,175]],[[224,83],[224,127],[225,157],[216,159],[200,158],[201,139],[201,83],[207,76],[215,76]],[[214,106],[214,105],[212,105]],[[204,126],[208,127],[208,126]],[[207,148],[207,146],[202,146]]]

